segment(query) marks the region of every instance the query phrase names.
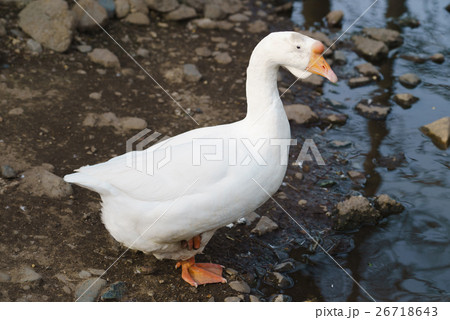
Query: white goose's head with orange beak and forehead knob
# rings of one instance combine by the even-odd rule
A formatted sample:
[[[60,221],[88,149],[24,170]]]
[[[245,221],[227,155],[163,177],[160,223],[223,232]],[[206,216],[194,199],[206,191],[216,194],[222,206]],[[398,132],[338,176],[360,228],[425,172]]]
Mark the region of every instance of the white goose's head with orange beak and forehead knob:
[[[323,58],[325,46],[298,32],[273,32],[260,42],[266,52],[266,61],[288,69],[300,79],[312,73],[337,82],[337,76]]]

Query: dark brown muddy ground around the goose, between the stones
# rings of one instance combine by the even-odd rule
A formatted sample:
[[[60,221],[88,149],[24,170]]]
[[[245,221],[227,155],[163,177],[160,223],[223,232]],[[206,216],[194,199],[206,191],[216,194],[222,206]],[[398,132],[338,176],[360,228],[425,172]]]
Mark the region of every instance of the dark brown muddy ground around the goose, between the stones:
[[[256,7],[251,6],[250,10],[255,11]],[[18,12],[14,6],[0,5],[0,16],[5,18],[7,30],[20,30]],[[270,13],[269,17],[270,31],[293,28],[288,16]],[[150,50],[148,58],[137,59],[170,93],[184,96],[181,103],[196,111],[193,117],[201,126],[242,119],[246,111],[245,70],[251,51],[263,34],[241,34],[234,30],[192,31],[186,28],[186,22],[168,22],[167,27],[161,27],[158,22],[162,17],[153,14],[151,18],[151,24],[146,27],[110,20],[107,30],[132,54],[141,47]],[[157,36],[150,36],[151,31]],[[233,59],[231,64],[221,66],[213,57],[196,56],[197,47],[214,50],[213,37],[225,38],[229,45],[226,51]],[[1,180],[0,270],[12,274],[28,266],[42,279],[30,283],[2,282],[0,300],[73,301],[75,289],[83,281],[80,271],[106,270],[125,248],[111,238],[101,223],[97,194],[74,186],[73,195],[62,199],[32,196],[19,190],[21,173],[50,163],[54,173],[62,177],[80,166],[124,153],[125,141],[139,130],[119,132],[113,127],[83,126],[89,112],[113,112],[118,117],[145,119],[148,128],[169,136],[197,125],[177,111],[171,99],[105,33],[78,33],[72,47],[63,54],[44,49],[41,54],[32,55],[26,49],[26,38],[11,33],[0,37],[0,160],[2,165],[7,164],[18,172],[15,179]],[[125,76],[120,70],[111,69],[100,74],[104,71],[98,69],[103,67],[76,50],[79,40],[94,48],[108,48],[119,57],[122,68],[131,68],[134,74]],[[162,66],[184,63],[197,65],[203,75],[201,82],[171,84],[164,81]],[[237,82],[239,79],[241,81]],[[280,86],[287,87],[293,80],[283,73]],[[89,98],[90,93],[100,91],[100,100]],[[283,100],[285,104],[308,104],[320,112],[325,106],[319,96],[320,91],[296,85]],[[23,113],[9,114],[13,108],[22,108]],[[292,126],[297,137],[317,135],[315,142],[319,149],[325,148],[325,139],[322,140],[325,126]],[[299,150],[298,146],[291,149],[293,160]],[[325,167],[311,163],[301,171],[298,166],[290,165],[285,184],[275,198],[337,256],[349,250],[351,239],[336,235],[326,212],[332,211],[354,185],[348,179],[339,178],[346,170],[345,156],[333,150],[324,151],[322,155],[327,163]],[[303,173],[302,180],[295,177],[298,172]],[[338,186],[319,187],[317,182],[324,179],[339,179]],[[300,199],[307,199],[308,204],[300,207],[297,204]],[[318,249],[273,201],[264,204],[257,213],[276,221],[279,229],[257,236],[250,232],[256,221],[250,226],[224,227],[197,260],[220,263],[236,270],[236,274],[230,271],[225,277],[229,281],[246,281],[252,288],[252,295],[267,301],[274,294],[284,292],[267,284],[267,272],[286,259],[295,258],[300,265],[306,265],[308,257]],[[291,252],[295,255],[290,257]],[[103,278],[108,285],[125,282],[127,290],[122,301],[223,301],[239,295],[228,284],[191,288],[181,280],[174,264],[174,261],[157,261],[141,252],[128,251]],[[152,266],[151,274],[136,273],[137,268],[145,266]],[[323,300],[320,290],[308,282],[308,277],[296,281],[289,291],[295,291],[293,296],[297,301]],[[248,301],[249,295],[241,298]]]

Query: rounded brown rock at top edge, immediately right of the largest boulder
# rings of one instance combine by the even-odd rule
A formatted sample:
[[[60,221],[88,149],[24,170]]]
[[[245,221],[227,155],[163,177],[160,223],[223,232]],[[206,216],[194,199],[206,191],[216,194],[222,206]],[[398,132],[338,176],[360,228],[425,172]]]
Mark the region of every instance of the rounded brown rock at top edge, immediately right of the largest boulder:
[[[98,28],[96,21],[104,26],[106,21],[108,20],[108,13],[106,9],[103,8],[97,1],[95,0],[78,0],[79,5],[75,4],[72,8],[72,12],[75,17],[75,25],[78,30],[93,30]],[[80,8],[83,7],[82,8]],[[87,11],[89,15],[86,14]],[[94,21],[95,20],[95,21]]]

